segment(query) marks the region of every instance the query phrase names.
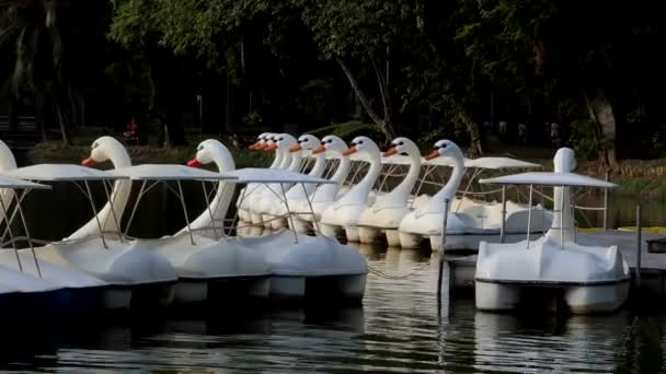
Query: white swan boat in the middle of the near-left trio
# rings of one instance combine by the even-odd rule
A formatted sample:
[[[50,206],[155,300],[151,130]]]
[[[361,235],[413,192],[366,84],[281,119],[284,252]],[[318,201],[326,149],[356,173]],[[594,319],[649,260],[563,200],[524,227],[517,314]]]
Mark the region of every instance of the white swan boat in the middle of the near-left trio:
[[[210,142],[208,141],[208,143]],[[199,149],[203,149],[203,145],[199,145]],[[195,163],[190,162],[190,165],[195,166]],[[231,296],[268,296],[272,272],[263,256],[227,239],[223,227],[215,225],[216,213],[214,211],[220,214],[219,211],[222,208],[220,203],[225,203],[225,201],[228,203],[230,195],[233,192],[232,189],[225,188],[229,179],[233,179],[232,177],[184,165],[168,164],[142,164],[113,170],[108,173],[141,183],[127,229],[131,225],[134,212],[146,191],[159,183],[175,184],[175,188],[166,186],[181,201],[186,227],[172,236],[154,239],[135,238],[131,242],[135,246],[162,256],[175,268],[179,277],[175,285],[175,302],[183,304],[204,301],[219,302]],[[195,180],[203,185],[207,182],[222,184],[213,202],[194,222],[197,229],[206,230],[203,232],[204,235],[198,235],[190,223],[185,196],[181,186],[183,180]],[[148,183],[151,184],[147,185]],[[207,198],[206,188],[203,188],[202,194]],[[208,214],[207,220],[203,218],[205,214]],[[205,223],[209,225],[203,226]],[[207,231],[210,231],[208,236],[206,236]]]

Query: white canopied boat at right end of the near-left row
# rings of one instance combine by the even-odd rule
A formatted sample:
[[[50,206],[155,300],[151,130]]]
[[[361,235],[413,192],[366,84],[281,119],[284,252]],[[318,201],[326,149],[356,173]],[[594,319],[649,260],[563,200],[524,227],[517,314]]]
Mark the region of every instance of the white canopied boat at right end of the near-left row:
[[[208,143],[202,144],[204,147],[197,152],[198,163],[217,163],[225,156],[225,153],[219,152],[219,148],[208,147]],[[239,184],[265,186],[269,194],[274,194],[285,203],[288,212],[291,208],[282,186],[335,184],[334,180],[274,168],[242,168],[226,172],[225,175],[234,177],[233,182]],[[244,198],[241,196],[240,203]],[[292,214],[289,214],[288,219],[292,222]],[[294,231],[282,230],[261,237],[236,237],[236,241],[262,254],[271,265],[273,297],[342,297],[360,301],[365,294],[367,261],[356,249],[333,238],[299,235]]]

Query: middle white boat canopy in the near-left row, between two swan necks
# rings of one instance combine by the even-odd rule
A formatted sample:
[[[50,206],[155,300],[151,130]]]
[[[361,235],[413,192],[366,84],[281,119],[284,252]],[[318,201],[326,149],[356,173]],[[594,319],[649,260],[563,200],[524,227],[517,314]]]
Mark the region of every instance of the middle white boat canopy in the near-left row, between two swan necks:
[[[106,172],[133,180],[221,180],[232,176],[177,164],[141,164]]]

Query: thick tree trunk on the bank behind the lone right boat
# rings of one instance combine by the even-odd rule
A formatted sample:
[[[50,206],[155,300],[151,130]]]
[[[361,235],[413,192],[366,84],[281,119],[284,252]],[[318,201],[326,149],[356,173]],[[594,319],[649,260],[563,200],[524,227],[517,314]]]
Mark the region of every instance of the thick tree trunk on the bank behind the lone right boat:
[[[616,154],[616,116],[612,112],[612,105],[608,101],[602,89],[594,89],[590,95],[585,93],[585,103],[589,112],[590,118],[595,121],[599,141],[599,156],[607,166],[616,168],[618,159]]]

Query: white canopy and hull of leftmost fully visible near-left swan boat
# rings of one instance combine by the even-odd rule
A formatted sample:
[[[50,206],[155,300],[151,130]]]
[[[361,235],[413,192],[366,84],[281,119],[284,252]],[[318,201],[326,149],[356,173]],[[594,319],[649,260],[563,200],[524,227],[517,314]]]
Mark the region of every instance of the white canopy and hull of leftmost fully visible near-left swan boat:
[[[91,202],[95,217],[93,223],[96,234],[77,239],[51,242],[35,248],[37,258],[45,264],[53,264],[77,274],[69,288],[80,284],[104,287],[102,303],[105,308],[127,308],[131,305],[166,305],[173,297],[173,284],[176,280],[173,267],[162,257],[137,247],[120,237],[104,233],[104,223],[94,207],[90,183],[118,180],[124,177],[106,172],[66,164],[39,164],[5,172],[9,175],[26,180],[77,184],[80,191]],[[78,185],[81,183],[83,187]],[[107,217],[114,224],[119,222],[116,212]],[[50,266],[45,266],[48,274]],[[103,281],[103,282],[102,282]]]

